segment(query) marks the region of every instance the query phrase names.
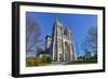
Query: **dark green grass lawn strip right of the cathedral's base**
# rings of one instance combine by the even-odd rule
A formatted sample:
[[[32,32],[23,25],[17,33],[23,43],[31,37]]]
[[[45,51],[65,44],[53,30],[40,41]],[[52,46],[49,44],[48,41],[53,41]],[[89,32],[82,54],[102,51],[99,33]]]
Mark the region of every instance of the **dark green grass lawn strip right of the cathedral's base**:
[[[69,62],[66,65],[76,65],[76,64],[94,64],[97,63],[96,58],[91,58],[91,60],[84,60],[84,61],[73,61]]]

